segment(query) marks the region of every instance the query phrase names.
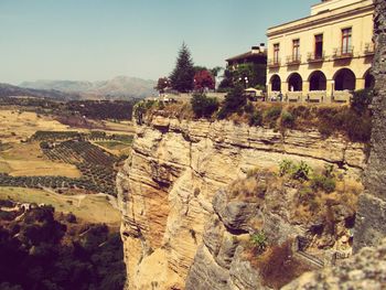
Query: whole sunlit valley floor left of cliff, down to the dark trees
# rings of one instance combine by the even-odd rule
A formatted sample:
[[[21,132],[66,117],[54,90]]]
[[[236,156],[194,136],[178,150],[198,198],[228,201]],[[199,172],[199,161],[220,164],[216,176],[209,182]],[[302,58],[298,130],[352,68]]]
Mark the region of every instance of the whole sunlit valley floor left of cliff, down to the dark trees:
[[[130,154],[133,128],[129,119],[103,119],[100,111],[110,110],[109,103],[94,111],[94,103],[88,108],[87,101],[2,98],[2,103],[0,198],[51,204],[85,222],[117,227],[119,212],[111,204],[116,204],[115,175]],[[87,109],[93,118],[82,117],[76,108]],[[63,116],[84,123],[62,123]]]

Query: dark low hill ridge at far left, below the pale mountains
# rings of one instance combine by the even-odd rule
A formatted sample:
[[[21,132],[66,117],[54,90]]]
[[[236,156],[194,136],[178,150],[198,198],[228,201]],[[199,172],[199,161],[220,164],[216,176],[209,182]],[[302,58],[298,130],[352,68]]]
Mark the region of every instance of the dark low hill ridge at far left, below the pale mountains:
[[[60,100],[79,99],[77,93],[65,93],[55,89],[33,89],[0,83],[0,97],[29,96],[36,98],[54,98]]]

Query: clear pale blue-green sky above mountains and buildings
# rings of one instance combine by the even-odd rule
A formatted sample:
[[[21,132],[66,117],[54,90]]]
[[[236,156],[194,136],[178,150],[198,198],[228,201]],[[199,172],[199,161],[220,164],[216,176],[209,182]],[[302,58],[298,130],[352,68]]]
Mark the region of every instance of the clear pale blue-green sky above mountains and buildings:
[[[0,83],[158,79],[183,42],[194,64],[225,67],[319,1],[0,0]]]

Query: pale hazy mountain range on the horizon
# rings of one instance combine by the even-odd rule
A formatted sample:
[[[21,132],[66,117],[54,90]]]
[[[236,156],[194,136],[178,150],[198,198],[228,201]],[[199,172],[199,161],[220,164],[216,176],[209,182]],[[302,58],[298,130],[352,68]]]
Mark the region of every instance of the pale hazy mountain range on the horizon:
[[[21,87],[34,89],[54,89],[64,93],[78,93],[84,98],[144,98],[156,94],[154,80],[137,77],[117,76],[110,80],[36,80],[24,82]]]

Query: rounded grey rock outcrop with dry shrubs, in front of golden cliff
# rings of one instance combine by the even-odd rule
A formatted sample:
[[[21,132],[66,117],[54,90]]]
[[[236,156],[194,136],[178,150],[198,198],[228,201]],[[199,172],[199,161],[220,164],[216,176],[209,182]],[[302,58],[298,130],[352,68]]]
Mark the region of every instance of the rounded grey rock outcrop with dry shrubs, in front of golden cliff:
[[[305,270],[322,267],[324,260],[334,262],[331,260],[333,249],[351,249],[347,238],[345,245],[340,244],[350,235],[346,221],[355,215],[344,198],[335,200],[333,205],[334,197],[330,196],[332,229],[326,226],[330,217],[325,215],[325,204],[318,203],[312,214],[301,216],[300,183],[278,178],[269,171],[248,175],[214,196],[214,214],[205,226],[203,243],[187,275],[186,290],[276,289]],[[256,253],[251,237],[257,233],[266,238],[270,250]],[[268,256],[275,249],[278,253],[281,245],[287,245],[289,255]],[[310,250],[312,255],[307,253]],[[270,278],[266,277],[264,268],[267,267],[262,262],[271,264],[271,259],[278,267],[269,270]],[[280,281],[272,282],[274,277]]]

